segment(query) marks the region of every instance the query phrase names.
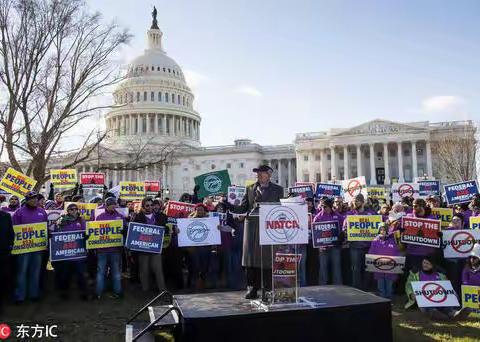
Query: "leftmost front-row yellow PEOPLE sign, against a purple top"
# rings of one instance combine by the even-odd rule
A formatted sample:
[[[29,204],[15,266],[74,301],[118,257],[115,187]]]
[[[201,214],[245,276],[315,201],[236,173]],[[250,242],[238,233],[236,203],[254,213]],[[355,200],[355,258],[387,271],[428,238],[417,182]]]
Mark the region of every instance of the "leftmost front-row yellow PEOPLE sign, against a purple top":
[[[47,222],[17,224],[13,226],[12,254],[24,254],[47,250]]]

